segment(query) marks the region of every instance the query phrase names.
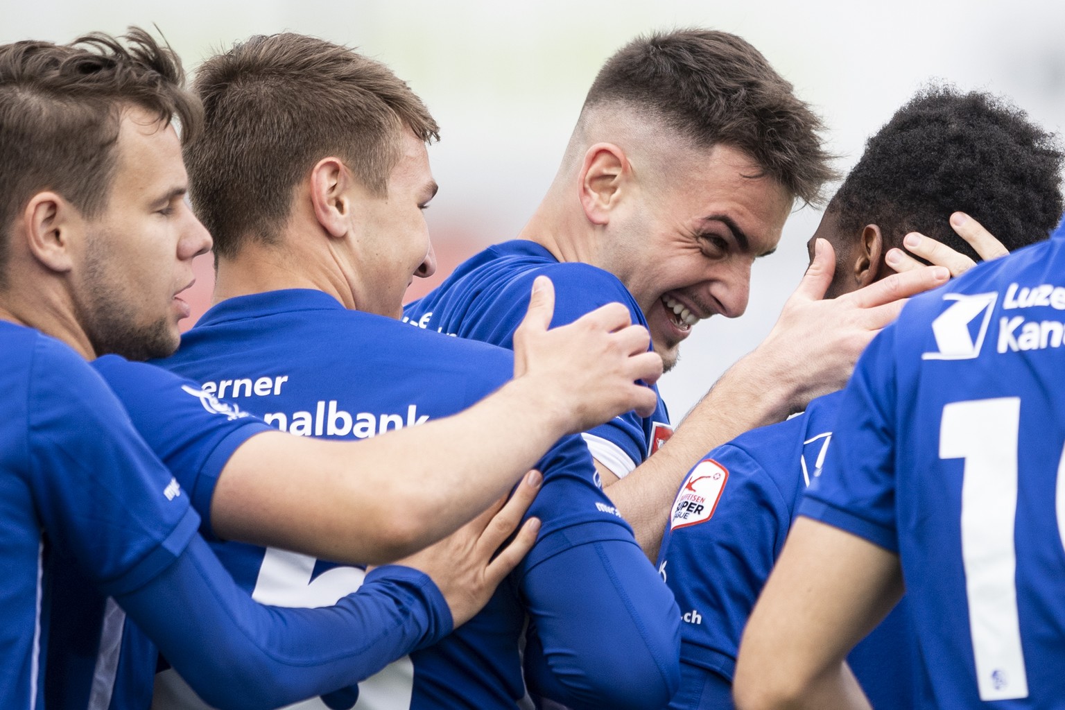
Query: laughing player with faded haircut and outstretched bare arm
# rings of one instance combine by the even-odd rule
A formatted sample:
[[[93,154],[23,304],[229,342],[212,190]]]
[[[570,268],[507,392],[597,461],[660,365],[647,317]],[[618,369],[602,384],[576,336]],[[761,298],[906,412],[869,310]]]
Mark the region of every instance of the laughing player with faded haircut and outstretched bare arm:
[[[408,304],[406,319],[508,346],[529,285],[546,275],[561,304],[556,324],[625,303],[668,369],[700,320],[743,313],[752,264],[776,248],[797,199],[818,199],[832,177],[821,129],[742,38],[710,30],[639,37],[596,76],[519,238],[461,264]],[[818,275],[831,268],[820,253],[769,337],[674,435],[663,403],[586,433],[608,495],[652,559],[692,461],[841,386],[861,348],[898,313],[891,301],[946,279],[916,271],[824,301]]]

